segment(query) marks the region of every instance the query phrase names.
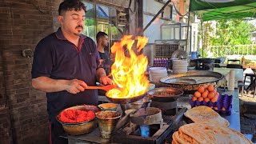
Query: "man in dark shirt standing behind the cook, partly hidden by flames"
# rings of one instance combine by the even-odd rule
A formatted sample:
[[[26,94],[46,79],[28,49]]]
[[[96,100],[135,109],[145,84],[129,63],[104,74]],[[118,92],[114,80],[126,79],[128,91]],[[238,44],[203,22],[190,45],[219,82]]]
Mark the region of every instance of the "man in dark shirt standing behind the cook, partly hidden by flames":
[[[102,67],[106,74],[109,75],[111,71],[110,53],[105,50],[109,45],[109,37],[106,33],[99,31],[96,35],[98,54],[101,57]]]

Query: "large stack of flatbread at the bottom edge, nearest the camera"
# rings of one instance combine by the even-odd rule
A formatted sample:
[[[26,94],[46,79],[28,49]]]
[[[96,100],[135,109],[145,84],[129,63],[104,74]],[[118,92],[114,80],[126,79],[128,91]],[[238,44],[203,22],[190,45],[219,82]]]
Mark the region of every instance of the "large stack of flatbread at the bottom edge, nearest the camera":
[[[250,140],[236,130],[209,123],[190,123],[181,126],[173,134],[172,144],[246,144]]]

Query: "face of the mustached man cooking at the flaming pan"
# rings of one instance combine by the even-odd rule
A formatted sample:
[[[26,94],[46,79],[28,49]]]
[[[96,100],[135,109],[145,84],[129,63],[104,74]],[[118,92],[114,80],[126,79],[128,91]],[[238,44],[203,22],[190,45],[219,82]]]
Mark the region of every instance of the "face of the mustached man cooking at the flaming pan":
[[[58,20],[69,34],[81,35],[85,28],[86,12],[84,10],[68,10],[59,16]]]

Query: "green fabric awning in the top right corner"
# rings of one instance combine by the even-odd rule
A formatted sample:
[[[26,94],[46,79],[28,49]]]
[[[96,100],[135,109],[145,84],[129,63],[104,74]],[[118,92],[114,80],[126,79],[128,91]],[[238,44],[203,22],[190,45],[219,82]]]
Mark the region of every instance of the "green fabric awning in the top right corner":
[[[190,0],[190,11],[203,21],[256,18],[256,0]]]

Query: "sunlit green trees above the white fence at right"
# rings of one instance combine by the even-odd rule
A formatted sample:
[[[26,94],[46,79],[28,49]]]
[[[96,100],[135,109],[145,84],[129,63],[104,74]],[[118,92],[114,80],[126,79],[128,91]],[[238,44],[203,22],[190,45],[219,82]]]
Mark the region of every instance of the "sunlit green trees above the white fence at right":
[[[216,22],[216,26],[213,25],[214,22]],[[246,22],[245,19],[236,18],[203,22],[202,28],[199,27],[199,30],[203,30],[202,35],[198,35],[198,39],[202,38],[204,57],[207,57],[211,54],[208,50],[209,46],[223,47],[252,44],[250,32],[255,31],[256,28]],[[224,51],[214,51],[214,53],[224,54]]]

